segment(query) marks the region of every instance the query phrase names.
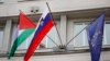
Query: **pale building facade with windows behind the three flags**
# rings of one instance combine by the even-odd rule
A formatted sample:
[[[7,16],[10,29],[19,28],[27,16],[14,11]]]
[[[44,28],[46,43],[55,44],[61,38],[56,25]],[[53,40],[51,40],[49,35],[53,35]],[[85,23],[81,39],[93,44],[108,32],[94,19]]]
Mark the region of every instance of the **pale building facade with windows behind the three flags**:
[[[12,42],[14,41],[15,29],[19,21],[20,11],[37,24],[42,12],[50,5],[54,22],[54,26],[47,34],[58,46],[66,45],[67,51],[59,51],[57,46],[47,36],[42,41],[43,47],[35,51],[32,61],[44,60],[76,60],[90,61],[88,51],[88,40],[86,30],[82,30],[73,39],[81,29],[84,29],[91,21],[97,19],[102,12],[106,12],[106,24],[101,61],[110,61],[110,1],[109,0],[1,0],[0,2],[0,61],[8,61],[7,56]],[[57,33],[58,32],[58,33]],[[61,39],[58,37],[61,36]],[[61,41],[62,40],[62,41]],[[31,41],[24,41],[16,50],[13,61],[23,61]],[[108,51],[109,50],[109,51]],[[78,52],[76,52],[78,51]],[[53,53],[54,52],[54,53]],[[81,52],[81,53],[80,53]],[[38,53],[38,54],[37,54]],[[42,54],[44,53],[44,54]],[[65,56],[64,56],[65,54]],[[61,56],[61,58],[58,58]],[[43,58],[42,58],[43,57]],[[78,57],[82,60],[79,60]],[[81,58],[82,57],[82,58]],[[42,58],[42,59],[41,59]],[[64,59],[63,59],[64,58]],[[16,60],[18,59],[18,60]]]

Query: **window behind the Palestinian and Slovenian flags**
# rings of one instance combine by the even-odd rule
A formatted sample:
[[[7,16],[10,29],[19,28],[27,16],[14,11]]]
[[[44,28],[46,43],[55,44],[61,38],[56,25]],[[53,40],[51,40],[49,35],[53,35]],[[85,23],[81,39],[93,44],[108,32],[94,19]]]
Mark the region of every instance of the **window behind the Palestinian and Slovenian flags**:
[[[53,47],[55,47],[55,44],[52,41],[52,39],[54,41],[56,41],[56,37],[57,36],[57,33],[56,33],[56,29],[55,27],[53,27],[48,34],[43,38],[41,45],[38,46],[37,49],[51,49]],[[50,38],[52,39],[50,39]],[[14,25],[13,27],[13,33],[12,33],[12,45],[13,45],[13,41],[14,39],[16,38],[16,25]],[[23,41],[19,47],[18,47],[18,50],[26,50],[29,48],[31,44],[31,39],[28,39],[25,41]]]

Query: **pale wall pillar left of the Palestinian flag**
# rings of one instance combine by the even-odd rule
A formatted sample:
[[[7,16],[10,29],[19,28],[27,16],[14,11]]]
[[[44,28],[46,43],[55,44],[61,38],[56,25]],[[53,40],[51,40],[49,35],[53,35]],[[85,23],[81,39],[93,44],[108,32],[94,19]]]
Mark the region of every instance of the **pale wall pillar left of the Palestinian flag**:
[[[9,50],[9,44],[10,44],[10,35],[11,35],[11,27],[12,27],[12,21],[8,20],[6,27],[4,27],[4,33],[3,33],[3,42],[2,42],[2,48],[0,49],[0,51],[2,53],[7,53]]]

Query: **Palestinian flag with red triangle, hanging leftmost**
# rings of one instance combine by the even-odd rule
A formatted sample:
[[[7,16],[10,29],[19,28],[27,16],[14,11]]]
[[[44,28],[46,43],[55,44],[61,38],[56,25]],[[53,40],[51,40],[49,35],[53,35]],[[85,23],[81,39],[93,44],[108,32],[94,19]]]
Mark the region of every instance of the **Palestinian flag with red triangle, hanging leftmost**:
[[[29,38],[31,38],[35,29],[35,24],[33,24],[22,12],[20,13],[19,25],[18,25],[18,36],[9,51],[9,59],[14,56],[18,47]]]

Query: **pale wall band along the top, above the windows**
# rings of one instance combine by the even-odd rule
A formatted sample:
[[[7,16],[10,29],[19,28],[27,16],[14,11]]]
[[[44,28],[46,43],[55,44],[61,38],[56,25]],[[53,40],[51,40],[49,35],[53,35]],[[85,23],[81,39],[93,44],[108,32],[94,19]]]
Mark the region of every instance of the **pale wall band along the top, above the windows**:
[[[45,1],[25,1],[25,2],[14,2],[7,3],[9,0],[6,0],[3,4],[0,4],[0,16],[18,15],[19,10],[22,10],[26,14],[32,14],[30,12],[31,7],[38,7],[40,12],[42,12],[46,3]],[[84,9],[96,9],[96,8],[106,8],[110,7],[109,0],[47,0],[52,12],[62,12],[62,11],[75,11]],[[38,12],[38,13],[40,13]]]

